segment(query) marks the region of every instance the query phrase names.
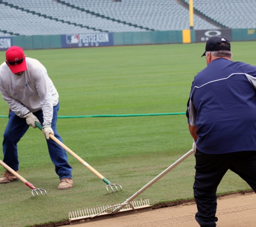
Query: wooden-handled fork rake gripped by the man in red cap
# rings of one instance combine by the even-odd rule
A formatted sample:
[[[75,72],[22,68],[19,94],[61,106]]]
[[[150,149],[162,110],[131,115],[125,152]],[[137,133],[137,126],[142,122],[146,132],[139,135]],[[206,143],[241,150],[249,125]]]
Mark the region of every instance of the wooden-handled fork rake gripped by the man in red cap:
[[[35,124],[38,127],[38,129],[43,130],[43,127],[38,122],[35,122]],[[50,138],[53,141],[55,141],[57,144],[59,144],[61,147],[63,147],[64,150],[67,151],[68,153],[70,153],[75,159],[80,161],[82,165],[87,167],[91,172],[93,172],[96,176],[98,176],[98,178],[100,178],[103,182],[105,182],[107,184],[106,188],[107,188],[108,193],[109,193],[109,190],[108,190],[109,188],[112,190],[112,193],[114,192],[113,187],[116,189],[116,191],[118,191],[117,187],[120,187],[120,189],[122,190],[121,185],[117,185],[116,183],[111,183],[108,179],[106,179],[104,176],[102,176],[98,171],[96,171],[86,161],[82,160],[77,154],[75,154],[73,151],[71,151],[70,148],[68,148],[65,144],[63,144],[60,140],[58,140],[52,134],[50,134]]]

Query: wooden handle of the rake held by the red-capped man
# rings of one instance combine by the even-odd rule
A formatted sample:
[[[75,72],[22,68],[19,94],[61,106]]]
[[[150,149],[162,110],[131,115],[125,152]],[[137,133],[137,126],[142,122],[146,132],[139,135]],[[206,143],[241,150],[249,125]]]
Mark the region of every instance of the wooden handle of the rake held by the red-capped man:
[[[43,130],[43,127],[38,123],[34,123],[38,129]],[[112,183],[109,182],[104,176],[102,176],[98,171],[96,171],[92,166],[90,166],[86,161],[82,160],[77,154],[75,154],[73,151],[70,150],[65,144],[61,143],[60,140],[58,140],[56,137],[54,137],[52,134],[50,134],[50,138],[55,141],[58,145],[60,145],[62,148],[64,148],[65,151],[70,153],[75,159],[81,162],[82,165],[86,166],[91,172],[93,172],[98,178],[100,178],[102,181],[107,183],[107,185],[111,185]]]

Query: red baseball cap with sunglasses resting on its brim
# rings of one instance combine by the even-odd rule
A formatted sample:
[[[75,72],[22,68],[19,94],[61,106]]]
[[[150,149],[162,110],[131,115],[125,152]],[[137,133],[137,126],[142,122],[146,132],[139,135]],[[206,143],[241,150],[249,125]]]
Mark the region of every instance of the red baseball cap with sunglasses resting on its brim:
[[[5,53],[6,61],[12,73],[19,73],[25,71],[26,60],[23,49],[18,46],[10,47]]]

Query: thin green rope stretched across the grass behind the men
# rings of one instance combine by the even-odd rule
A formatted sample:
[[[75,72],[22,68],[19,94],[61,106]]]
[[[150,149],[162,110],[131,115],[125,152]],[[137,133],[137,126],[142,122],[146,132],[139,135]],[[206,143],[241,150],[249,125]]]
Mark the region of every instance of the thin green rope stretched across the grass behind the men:
[[[163,116],[163,115],[184,115],[181,113],[145,113],[145,114],[124,114],[124,115],[84,115],[84,116],[58,116],[58,118],[84,118],[84,117],[145,117],[145,116]],[[0,115],[0,117],[8,117]]]

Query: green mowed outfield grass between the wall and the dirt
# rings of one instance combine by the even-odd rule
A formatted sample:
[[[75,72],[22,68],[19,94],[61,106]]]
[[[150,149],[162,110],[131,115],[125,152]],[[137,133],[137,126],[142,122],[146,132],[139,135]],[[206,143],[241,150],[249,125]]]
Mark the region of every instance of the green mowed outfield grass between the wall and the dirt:
[[[232,42],[234,61],[256,65],[256,42]],[[59,116],[185,112],[193,77],[205,66],[205,44],[171,44],[25,51],[45,65],[60,98]],[[0,61],[5,52],[0,52]],[[8,106],[0,100],[0,115]],[[8,118],[0,118],[3,134]],[[106,183],[68,154],[74,188],[57,190],[45,138],[29,129],[19,141],[19,174],[47,196],[32,197],[21,181],[0,185],[0,226],[23,227],[68,219],[68,211],[124,202],[192,146],[185,115],[59,118],[64,144],[123,190]],[[3,153],[0,152],[3,160]],[[144,191],[151,204],[193,197],[195,158]],[[0,166],[0,171],[4,168]],[[250,187],[228,172],[218,193]]]

